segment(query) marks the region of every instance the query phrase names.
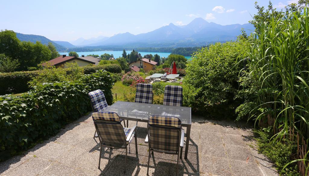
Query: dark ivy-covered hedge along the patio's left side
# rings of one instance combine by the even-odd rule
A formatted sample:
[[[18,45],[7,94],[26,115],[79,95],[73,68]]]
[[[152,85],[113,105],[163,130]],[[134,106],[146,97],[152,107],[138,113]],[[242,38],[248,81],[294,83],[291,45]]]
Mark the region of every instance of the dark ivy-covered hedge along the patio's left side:
[[[101,89],[112,103],[115,79],[99,70],[74,82],[50,83],[16,96],[0,97],[0,161],[55,135],[91,110],[88,92]]]

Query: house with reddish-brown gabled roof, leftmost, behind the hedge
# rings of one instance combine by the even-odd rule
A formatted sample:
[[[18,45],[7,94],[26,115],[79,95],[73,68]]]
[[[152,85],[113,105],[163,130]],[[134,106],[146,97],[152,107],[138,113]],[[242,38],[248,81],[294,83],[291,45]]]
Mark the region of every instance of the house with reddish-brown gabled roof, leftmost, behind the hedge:
[[[51,66],[55,66],[56,68],[65,67],[65,63],[77,63],[79,67],[83,67],[89,64],[98,65],[100,59],[98,60],[95,57],[85,55],[82,55],[82,57],[76,57],[75,55],[66,56],[66,54],[63,54],[47,62],[49,62]]]

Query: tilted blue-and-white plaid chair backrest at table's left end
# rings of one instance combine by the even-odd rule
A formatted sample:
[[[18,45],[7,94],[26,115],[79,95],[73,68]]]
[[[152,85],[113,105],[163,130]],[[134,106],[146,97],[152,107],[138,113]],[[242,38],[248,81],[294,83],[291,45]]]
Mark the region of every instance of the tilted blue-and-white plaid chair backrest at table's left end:
[[[102,90],[95,90],[88,93],[91,100],[93,112],[102,112],[108,107],[104,93]]]

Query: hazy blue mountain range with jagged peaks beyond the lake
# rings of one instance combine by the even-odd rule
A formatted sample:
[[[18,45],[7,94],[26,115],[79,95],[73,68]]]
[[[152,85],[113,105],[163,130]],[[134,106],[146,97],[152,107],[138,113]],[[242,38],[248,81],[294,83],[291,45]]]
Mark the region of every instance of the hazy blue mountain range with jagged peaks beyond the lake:
[[[196,18],[187,25],[176,26],[173,23],[155,29],[154,31],[133,35],[129,32],[116,34],[111,37],[99,36],[97,38],[79,38],[71,43],[65,41],[52,41],[64,48],[74,47],[97,47],[97,46],[134,46],[134,47],[182,47],[182,46],[202,46],[210,42],[235,40],[241,34],[241,29],[248,34],[254,31],[252,24],[231,24],[220,25],[207,22],[202,18]],[[25,35],[25,34],[23,34]],[[28,40],[31,36],[29,35]],[[19,36],[17,36],[19,38]],[[44,36],[35,37],[39,40],[47,39]],[[25,37],[23,37],[24,39]],[[19,38],[20,39],[20,38]],[[22,40],[22,39],[20,39]],[[49,40],[49,39],[48,39]],[[39,40],[40,41],[40,40]],[[50,41],[50,40],[49,40]],[[43,43],[43,41],[41,41]],[[48,42],[47,42],[48,43]],[[45,43],[44,43],[45,44]],[[58,49],[59,47],[56,46]],[[61,49],[61,48],[59,48]]]

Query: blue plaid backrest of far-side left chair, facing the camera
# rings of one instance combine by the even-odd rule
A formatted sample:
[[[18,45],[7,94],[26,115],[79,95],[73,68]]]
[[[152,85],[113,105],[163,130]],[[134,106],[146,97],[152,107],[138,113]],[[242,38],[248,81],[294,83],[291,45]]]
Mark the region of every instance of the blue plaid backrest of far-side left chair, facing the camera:
[[[151,84],[137,84],[136,85],[136,103],[148,103],[152,104],[154,94],[152,93]]]

